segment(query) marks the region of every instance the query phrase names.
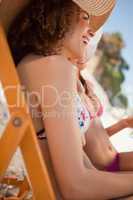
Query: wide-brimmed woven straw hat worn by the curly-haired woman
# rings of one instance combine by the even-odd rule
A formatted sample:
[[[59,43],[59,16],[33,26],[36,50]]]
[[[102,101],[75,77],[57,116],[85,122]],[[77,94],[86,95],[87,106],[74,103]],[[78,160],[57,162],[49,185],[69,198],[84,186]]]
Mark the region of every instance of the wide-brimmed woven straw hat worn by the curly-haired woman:
[[[108,19],[116,0],[72,0],[90,16],[90,27],[96,32]]]

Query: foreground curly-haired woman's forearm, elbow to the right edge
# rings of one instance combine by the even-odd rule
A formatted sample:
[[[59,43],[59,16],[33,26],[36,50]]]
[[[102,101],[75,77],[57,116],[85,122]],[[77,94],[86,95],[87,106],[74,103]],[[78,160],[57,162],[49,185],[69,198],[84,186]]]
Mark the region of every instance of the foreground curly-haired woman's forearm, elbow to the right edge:
[[[88,170],[73,200],[109,200],[133,194],[133,173],[117,174]]]

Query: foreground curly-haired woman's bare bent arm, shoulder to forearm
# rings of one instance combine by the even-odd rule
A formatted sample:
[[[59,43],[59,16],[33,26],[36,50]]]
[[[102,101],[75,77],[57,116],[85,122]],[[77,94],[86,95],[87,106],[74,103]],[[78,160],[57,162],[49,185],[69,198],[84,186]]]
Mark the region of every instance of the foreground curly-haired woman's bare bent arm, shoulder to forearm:
[[[41,105],[49,150],[64,199],[107,200],[132,194],[132,173],[125,175],[98,171],[91,164],[89,168],[89,159],[84,164],[75,102],[69,96],[76,92],[75,69],[58,57],[51,60],[42,58],[22,67],[26,67],[23,78],[27,78],[28,88],[43,97]]]

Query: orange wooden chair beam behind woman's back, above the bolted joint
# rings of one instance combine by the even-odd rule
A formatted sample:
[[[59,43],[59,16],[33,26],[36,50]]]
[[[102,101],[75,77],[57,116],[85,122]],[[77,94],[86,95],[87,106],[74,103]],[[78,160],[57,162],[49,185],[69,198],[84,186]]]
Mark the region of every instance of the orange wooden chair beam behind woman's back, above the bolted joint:
[[[17,107],[18,94],[15,88],[20,87],[19,78],[2,26],[0,26],[0,80],[8,106]],[[12,107],[9,107],[9,111],[12,111]]]

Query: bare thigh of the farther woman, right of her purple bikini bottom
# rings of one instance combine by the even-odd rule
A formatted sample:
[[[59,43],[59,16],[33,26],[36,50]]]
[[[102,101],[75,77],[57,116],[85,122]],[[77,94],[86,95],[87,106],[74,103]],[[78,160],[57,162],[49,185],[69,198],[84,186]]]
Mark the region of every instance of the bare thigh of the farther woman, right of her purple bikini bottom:
[[[133,152],[119,154],[120,171],[133,171]]]

